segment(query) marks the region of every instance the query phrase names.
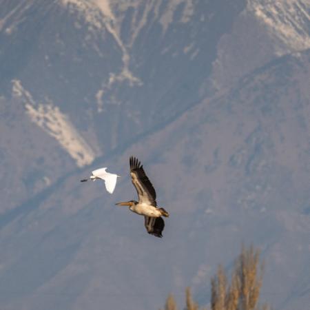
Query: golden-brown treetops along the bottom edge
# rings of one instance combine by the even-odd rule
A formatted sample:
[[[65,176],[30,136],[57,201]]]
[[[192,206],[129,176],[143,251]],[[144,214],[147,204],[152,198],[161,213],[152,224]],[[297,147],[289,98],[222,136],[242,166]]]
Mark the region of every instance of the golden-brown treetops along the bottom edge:
[[[220,265],[216,276],[211,279],[211,300],[209,310],[267,310],[264,304],[258,305],[260,287],[262,286],[262,265],[259,264],[259,251],[253,247],[242,247],[240,256],[236,259],[230,283],[223,267]],[[174,297],[169,294],[165,310],[177,310]],[[199,306],[192,299],[192,294],[186,289],[185,310],[198,310]],[[208,308],[205,308],[208,310]]]

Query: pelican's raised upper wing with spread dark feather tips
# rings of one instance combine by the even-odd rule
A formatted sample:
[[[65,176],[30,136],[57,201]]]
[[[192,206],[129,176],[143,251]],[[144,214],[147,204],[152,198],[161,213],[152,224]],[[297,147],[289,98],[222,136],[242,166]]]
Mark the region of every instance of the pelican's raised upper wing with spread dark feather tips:
[[[143,165],[135,157],[130,157],[130,175],[132,184],[136,187],[139,203],[147,203],[156,207],[156,192],[143,170]]]

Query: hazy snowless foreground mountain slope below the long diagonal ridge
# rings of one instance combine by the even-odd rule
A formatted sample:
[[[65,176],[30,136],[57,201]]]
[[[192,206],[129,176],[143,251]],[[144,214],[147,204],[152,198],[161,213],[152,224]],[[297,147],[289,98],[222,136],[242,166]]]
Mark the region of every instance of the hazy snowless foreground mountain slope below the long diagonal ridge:
[[[216,265],[231,265],[243,241],[259,246],[266,260],[262,300],[304,309],[309,59],[306,51],[269,63],[105,157],[123,176],[114,196],[102,184],[81,185],[85,169],[7,222],[0,238],[3,307],[158,309],[169,291],[183,298],[187,285],[204,304]],[[130,154],[143,161],[158,204],[172,214],[161,240],[145,233],[142,218],[114,206],[136,195]],[[300,281],[306,287],[296,286]]]

